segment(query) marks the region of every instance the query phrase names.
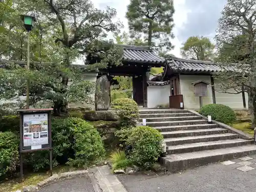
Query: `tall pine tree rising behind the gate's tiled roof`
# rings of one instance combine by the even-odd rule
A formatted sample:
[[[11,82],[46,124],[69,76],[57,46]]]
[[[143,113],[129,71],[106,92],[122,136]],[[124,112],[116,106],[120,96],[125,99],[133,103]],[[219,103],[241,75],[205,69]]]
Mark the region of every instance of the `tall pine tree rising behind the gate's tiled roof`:
[[[172,49],[174,12],[173,0],[131,0],[126,18],[132,37],[144,35],[148,46]]]

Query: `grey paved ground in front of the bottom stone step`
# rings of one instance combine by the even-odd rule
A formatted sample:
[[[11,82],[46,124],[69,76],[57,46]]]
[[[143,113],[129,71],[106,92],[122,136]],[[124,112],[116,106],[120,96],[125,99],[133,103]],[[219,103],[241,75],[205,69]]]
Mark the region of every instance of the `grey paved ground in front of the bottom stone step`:
[[[256,191],[255,163],[256,156],[250,156],[161,177],[119,175],[118,179],[128,192],[248,192]]]

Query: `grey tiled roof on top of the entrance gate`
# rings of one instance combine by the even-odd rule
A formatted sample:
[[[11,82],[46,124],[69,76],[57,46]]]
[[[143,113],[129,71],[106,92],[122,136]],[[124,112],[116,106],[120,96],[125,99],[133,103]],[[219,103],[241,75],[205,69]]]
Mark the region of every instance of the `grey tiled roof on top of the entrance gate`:
[[[127,46],[123,47],[123,60],[144,63],[164,63],[165,59],[155,54],[150,47],[146,46]]]

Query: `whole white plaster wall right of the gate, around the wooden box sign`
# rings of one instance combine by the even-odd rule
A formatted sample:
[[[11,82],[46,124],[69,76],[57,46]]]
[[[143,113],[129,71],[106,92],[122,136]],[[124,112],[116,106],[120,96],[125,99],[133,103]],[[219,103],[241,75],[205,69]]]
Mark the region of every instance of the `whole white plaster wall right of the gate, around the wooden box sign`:
[[[198,80],[203,80],[209,83],[209,85],[207,86],[207,97],[203,97],[203,106],[206,104],[213,103],[210,75],[180,75],[180,89],[181,89],[181,94],[183,95],[185,109],[193,109],[193,110],[200,109],[199,97],[195,97],[195,87],[193,84],[191,84]],[[216,80],[215,80],[215,89],[217,90],[215,91],[216,103],[227,105],[234,110],[244,109],[242,93],[241,94],[222,93],[220,88],[218,87],[218,82],[216,82]],[[229,90],[229,92],[232,92],[232,90]],[[245,93],[245,99],[246,99],[246,107],[248,109],[247,93]]]

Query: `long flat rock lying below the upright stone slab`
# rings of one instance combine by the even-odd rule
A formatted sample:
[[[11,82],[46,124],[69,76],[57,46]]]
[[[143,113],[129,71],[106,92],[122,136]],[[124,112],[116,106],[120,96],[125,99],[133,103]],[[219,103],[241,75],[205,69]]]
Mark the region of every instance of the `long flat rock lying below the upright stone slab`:
[[[113,111],[86,111],[84,119],[88,121],[117,121],[119,117]]]

